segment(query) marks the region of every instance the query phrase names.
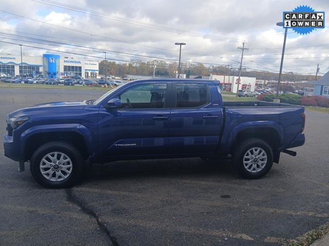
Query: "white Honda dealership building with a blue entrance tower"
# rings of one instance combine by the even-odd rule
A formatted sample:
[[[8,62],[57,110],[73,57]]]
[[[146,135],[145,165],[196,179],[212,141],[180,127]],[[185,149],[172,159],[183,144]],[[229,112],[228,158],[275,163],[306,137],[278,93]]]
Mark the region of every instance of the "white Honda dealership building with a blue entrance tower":
[[[45,78],[62,78],[79,75],[83,78],[96,78],[98,61],[80,60],[56,54],[42,56],[0,55],[0,74],[9,76],[42,74]]]

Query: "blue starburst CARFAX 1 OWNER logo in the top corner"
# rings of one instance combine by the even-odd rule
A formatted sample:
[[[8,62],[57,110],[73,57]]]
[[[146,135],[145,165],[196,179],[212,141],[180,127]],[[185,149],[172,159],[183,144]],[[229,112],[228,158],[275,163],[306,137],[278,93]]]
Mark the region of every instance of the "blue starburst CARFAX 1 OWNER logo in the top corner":
[[[308,34],[324,28],[324,11],[315,11],[309,6],[299,6],[293,11],[283,11],[283,28],[293,28],[298,34]]]

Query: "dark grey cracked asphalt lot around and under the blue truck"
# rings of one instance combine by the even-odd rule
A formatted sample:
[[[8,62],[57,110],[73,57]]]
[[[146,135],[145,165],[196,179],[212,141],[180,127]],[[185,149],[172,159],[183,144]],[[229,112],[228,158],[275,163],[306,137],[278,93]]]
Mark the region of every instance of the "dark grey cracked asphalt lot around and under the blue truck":
[[[104,91],[0,88],[9,112]],[[1,245],[281,245],[329,227],[329,114],[306,112],[306,143],[262,179],[199,158],[95,164],[75,188],[48,190],[0,145]]]

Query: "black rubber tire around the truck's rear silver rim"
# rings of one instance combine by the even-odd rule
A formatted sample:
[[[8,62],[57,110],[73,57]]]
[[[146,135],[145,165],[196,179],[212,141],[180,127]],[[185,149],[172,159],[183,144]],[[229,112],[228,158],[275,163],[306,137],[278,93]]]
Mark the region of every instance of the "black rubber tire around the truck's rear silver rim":
[[[252,148],[261,148],[265,151],[267,156],[267,161],[265,166],[262,170],[257,172],[251,172],[246,169],[244,166],[244,156],[248,152],[248,150]],[[265,159],[263,159],[265,161]],[[263,177],[265,174],[269,172],[273,165],[273,152],[271,147],[262,139],[259,138],[250,138],[247,140],[244,140],[240,142],[240,144],[237,144],[234,147],[234,152],[232,153],[232,162],[233,162],[233,168],[235,171],[237,171],[239,174],[244,176],[248,179],[257,179],[260,177]],[[255,167],[260,167],[258,162],[254,163]],[[255,170],[253,170],[255,171]]]

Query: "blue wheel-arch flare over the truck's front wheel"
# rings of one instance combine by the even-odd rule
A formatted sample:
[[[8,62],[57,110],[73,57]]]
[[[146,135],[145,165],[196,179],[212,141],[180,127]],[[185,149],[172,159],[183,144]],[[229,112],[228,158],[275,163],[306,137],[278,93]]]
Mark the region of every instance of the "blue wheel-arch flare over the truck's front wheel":
[[[76,132],[80,134],[86,144],[88,156],[95,154],[95,141],[93,139],[92,132],[81,124],[54,124],[54,125],[40,125],[31,127],[21,134],[20,138],[20,151],[21,156],[24,156],[24,146],[27,139],[34,134],[38,133],[50,133],[50,132]]]

